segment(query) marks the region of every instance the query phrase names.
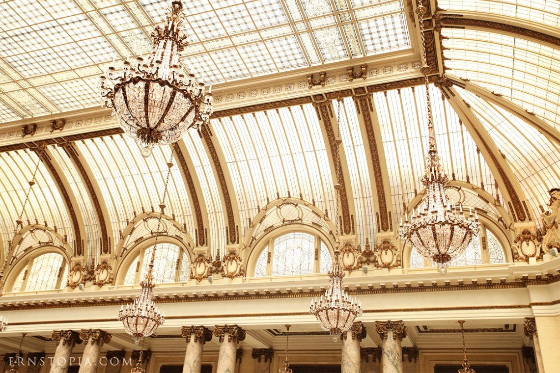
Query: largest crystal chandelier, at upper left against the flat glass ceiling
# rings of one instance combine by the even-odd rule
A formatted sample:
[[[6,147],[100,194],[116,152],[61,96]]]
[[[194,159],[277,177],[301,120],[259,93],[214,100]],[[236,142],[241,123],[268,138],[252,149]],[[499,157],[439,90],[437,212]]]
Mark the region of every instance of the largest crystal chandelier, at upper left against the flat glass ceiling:
[[[189,128],[199,129],[212,115],[212,87],[194,74],[183,74],[181,51],[188,45],[183,3],[173,0],[152,32],[152,54],[144,61],[123,62],[101,76],[101,97],[124,132],[136,139],[141,154],[149,157],[154,145],[178,141]]]

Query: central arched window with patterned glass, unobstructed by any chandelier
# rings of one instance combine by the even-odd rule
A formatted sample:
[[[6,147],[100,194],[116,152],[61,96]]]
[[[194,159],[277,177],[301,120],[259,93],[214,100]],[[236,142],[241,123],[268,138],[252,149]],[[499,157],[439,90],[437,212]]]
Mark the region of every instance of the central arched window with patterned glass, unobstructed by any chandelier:
[[[306,275],[316,272],[328,272],[332,265],[329,249],[323,241],[319,242],[318,264],[315,265],[314,235],[302,232],[284,234],[272,243],[272,248],[265,247],[256,261],[255,277],[267,276],[270,266],[272,276]],[[270,250],[270,263],[269,263]]]

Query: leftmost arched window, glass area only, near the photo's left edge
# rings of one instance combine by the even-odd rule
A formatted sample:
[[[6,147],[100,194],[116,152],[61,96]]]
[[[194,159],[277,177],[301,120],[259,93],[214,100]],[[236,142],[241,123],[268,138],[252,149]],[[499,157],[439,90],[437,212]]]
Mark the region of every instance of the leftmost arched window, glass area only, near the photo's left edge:
[[[46,253],[31,259],[16,277],[12,291],[62,289],[68,281],[68,264],[61,254]]]

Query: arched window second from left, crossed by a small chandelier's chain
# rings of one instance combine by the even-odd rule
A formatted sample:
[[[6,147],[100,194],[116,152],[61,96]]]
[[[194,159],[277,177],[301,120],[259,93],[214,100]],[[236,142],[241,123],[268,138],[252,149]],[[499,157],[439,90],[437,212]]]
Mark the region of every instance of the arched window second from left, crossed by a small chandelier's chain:
[[[139,284],[148,273],[153,246],[143,249],[128,267],[124,285]],[[142,266],[140,265],[142,263]],[[177,245],[157,244],[156,257],[153,259],[153,281],[156,284],[180,282],[189,279],[189,259]]]

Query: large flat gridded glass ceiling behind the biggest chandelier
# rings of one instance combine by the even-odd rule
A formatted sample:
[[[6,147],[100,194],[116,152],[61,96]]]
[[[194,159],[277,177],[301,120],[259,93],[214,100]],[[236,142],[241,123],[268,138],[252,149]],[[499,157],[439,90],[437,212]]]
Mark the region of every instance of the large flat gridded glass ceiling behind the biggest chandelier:
[[[151,50],[169,0],[0,3],[0,121],[100,105],[114,58]],[[401,0],[185,1],[183,62],[204,81],[410,48]]]

